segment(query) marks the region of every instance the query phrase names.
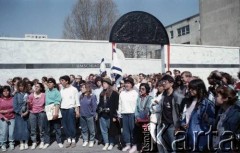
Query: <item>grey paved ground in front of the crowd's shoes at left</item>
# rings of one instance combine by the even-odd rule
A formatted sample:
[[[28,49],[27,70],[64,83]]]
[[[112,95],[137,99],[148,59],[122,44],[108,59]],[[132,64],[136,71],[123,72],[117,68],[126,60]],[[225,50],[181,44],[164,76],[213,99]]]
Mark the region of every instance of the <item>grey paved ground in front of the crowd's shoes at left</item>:
[[[31,146],[30,146],[31,147]],[[38,149],[31,150],[29,147],[28,150],[19,150],[19,145],[16,146],[16,148],[13,151],[7,151],[9,153],[94,153],[94,152],[114,152],[114,153],[120,153],[120,151],[117,147],[117,145],[113,148],[111,151],[103,151],[103,145],[95,144],[93,148],[89,147],[82,147],[82,141],[77,142],[77,146],[75,148],[59,148],[57,143],[54,142],[51,144],[47,149]],[[1,151],[0,151],[1,152]]]

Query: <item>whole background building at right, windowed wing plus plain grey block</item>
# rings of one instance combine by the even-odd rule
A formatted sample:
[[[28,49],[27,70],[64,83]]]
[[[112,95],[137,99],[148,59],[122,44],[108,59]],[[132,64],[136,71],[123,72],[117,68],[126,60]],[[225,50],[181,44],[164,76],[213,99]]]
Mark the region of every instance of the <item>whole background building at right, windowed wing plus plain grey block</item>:
[[[199,14],[166,26],[170,43],[240,46],[240,0],[199,0]]]

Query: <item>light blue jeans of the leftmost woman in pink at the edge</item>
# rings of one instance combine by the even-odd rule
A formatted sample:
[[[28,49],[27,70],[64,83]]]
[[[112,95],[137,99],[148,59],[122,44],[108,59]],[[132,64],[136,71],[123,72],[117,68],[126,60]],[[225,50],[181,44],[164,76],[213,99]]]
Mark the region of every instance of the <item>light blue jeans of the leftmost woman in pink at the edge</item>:
[[[7,140],[14,143],[13,131],[15,126],[15,119],[6,122],[0,119],[0,144],[6,144]],[[8,139],[7,139],[8,138]]]

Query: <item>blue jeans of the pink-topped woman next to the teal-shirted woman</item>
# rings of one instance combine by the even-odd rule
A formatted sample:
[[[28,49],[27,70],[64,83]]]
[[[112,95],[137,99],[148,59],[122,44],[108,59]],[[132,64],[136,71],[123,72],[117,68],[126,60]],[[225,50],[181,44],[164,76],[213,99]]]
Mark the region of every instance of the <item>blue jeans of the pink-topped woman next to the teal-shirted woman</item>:
[[[37,142],[37,128],[39,129],[40,140],[44,142],[46,131],[44,130],[44,123],[47,122],[47,116],[45,112],[30,113],[29,122],[31,127],[31,139],[35,143]]]

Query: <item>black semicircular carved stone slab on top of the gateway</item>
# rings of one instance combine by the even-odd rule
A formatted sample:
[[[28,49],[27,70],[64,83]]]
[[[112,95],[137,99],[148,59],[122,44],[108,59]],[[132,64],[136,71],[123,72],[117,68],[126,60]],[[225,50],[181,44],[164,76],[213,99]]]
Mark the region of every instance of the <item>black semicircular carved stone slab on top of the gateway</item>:
[[[110,42],[168,45],[169,38],[163,24],[153,15],[133,11],[123,15],[113,25]]]

